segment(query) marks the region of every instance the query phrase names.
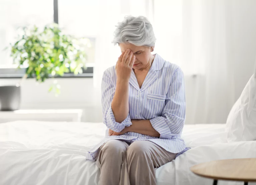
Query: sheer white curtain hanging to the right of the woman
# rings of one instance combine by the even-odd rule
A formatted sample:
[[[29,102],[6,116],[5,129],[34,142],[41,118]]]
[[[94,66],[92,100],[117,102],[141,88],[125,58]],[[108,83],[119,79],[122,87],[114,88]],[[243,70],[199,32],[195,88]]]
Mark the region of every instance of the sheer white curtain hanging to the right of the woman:
[[[187,124],[225,123],[253,73],[255,0],[155,1],[156,52],[185,73]]]

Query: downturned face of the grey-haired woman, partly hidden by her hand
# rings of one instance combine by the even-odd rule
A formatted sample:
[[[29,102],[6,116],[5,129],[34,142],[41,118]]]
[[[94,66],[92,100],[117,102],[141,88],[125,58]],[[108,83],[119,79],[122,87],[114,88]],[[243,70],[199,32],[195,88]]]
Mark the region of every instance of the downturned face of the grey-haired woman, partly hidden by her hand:
[[[139,69],[145,69],[149,65],[151,65],[151,50],[154,49],[154,47],[149,46],[135,46],[131,43],[120,43],[119,47],[121,49],[121,52],[126,51],[127,49],[131,49],[133,54],[135,55],[136,59],[134,62],[133,69],[139,70]]]

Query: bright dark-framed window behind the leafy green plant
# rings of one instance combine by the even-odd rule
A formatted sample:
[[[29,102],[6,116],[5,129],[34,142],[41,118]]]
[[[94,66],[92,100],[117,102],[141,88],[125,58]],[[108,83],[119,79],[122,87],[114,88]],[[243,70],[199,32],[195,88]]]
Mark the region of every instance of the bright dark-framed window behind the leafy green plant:
[[[77,0],[76,0],[77,1]],[[92,76],[93,63],[95,58],[95,29],[93,17],[96,14],[93,3],[83,2],[88,10],[77,6],[76,1],[69,0],[1,0],[0,1],[0,78],[2,77],[22,77],[24,70],[15,70],[13,60],[6,46],[15,42],[19,27],[37,25],[43,27],[46,24],[59,22],[65,33],[75,37],[87,37],[90,40],[89,48],[86,48],[88,57],[87,69],[80,76]],[[96,1],[95,1],[96,2]],[[88,4],[91,4],[89,7]],[[79,8],[80,7],[80,8]],[[83,13],[85,12],[85,13]],[[88,74],[89,73],[89,74]],[[65,74],[64,77],[73,76]]]

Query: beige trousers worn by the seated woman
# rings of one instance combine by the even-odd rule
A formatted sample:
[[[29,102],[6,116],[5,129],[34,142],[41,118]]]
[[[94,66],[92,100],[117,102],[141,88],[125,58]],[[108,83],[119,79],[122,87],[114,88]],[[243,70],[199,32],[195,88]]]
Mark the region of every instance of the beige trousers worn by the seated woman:
[[[175,159],[151,141],[109,140],[97,151],[100,168],[99,185],[156,185],[155,168]]]

